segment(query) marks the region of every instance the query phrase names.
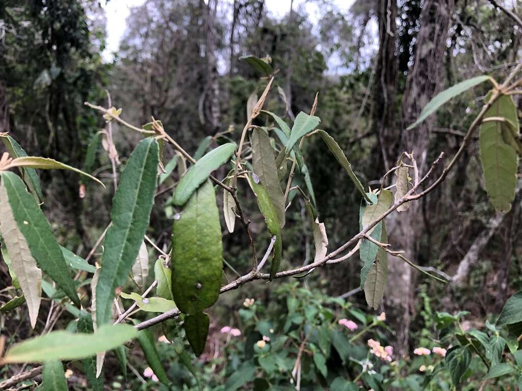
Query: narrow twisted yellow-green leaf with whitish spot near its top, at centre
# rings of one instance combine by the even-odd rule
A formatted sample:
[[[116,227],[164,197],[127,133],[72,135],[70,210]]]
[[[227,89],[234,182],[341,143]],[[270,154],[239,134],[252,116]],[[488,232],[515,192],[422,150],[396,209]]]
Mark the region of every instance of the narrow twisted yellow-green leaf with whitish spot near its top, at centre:
[[[274,243],[274,258],[272,258],[272,263],[270,265],[270,280],[274,278],[276,275],[279,264],[281,263],[281,253],[282,253],[282,238],[281,238],[281,226],[279,225],[279,221],[277,218],[277,212],[274,207],[274,204],[270,201],[270,197],[268,196],[268,192],[260,183],[259,178],[255,174],[250,174],[248,176],[248,184],[252,188],[256,198],[257,205],[259,206],[259,211],[265,217],[265,222],[268,227],[268,231],[271,236],[276,236],[276,241]]]

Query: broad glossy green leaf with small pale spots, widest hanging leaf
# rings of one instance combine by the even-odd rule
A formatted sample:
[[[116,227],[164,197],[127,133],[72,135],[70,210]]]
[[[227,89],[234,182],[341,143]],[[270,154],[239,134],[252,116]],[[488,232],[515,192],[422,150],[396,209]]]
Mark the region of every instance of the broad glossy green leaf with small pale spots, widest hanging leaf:
[[[172,229],[172,293],[181,312],[196,314],[219,296],[221,227],[210,180],[192,194]]]

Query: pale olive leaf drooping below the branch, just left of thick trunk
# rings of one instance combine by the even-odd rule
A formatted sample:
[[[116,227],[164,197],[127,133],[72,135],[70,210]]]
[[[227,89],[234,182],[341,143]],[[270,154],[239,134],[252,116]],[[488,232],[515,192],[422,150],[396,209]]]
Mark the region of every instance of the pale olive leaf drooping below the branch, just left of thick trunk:
[[[382,225],[381,243],[388,242],[388,233],[386,227]],[[375,263],[370,268],[368,275],[366,276],[366,282],[364,283],[364,296],[366,303],[374,310],[376,310],[383,299],[384,292],[386,290],[386,284],[388,283],[388,253],[378,248]]]

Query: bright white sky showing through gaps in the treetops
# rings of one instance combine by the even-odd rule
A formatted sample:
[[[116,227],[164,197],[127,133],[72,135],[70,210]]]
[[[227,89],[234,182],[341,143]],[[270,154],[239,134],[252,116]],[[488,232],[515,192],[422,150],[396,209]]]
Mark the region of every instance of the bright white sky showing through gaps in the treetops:
[[[265,0],[265,6],[269,13],[276,18],[282,18],[290,9],[291,0]],[[103,3],[103,2],[102,2]],[[129,8],[145,3],[145,0],[111,0],[105,4],[105,16],[107,18],[107,46],[102,53],[105,60],[112,59],[112,53],[118,50],[123,33],[125,32],[125,20],[129,15]],[[334,3],[341,10],[348,10],[353,0],[334,0]],[[317,3],[307,2],[306,0],[294,0],[294,7],[305,4],[307,12],[310,14],[312,21],[317,13]]]

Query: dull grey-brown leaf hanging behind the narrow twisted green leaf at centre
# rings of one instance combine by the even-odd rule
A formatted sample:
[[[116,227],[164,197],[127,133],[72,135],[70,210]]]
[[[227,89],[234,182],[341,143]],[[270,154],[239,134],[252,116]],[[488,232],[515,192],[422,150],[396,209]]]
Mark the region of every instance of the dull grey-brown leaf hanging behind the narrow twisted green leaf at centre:
[[[284,227],[284,195],[277,176],[270,138],[263,129],[254,129],[252,132],[252,165],[254,173],[265,186],[268,197],[276,210],[279,226],[282,228]]]

